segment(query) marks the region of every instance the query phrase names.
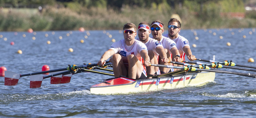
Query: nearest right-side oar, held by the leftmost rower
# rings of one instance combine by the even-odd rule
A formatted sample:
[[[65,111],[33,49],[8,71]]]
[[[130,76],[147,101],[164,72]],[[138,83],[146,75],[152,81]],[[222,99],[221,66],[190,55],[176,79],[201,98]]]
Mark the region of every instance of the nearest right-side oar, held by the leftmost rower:
[[[219,73],[226,73],[226,74],[236,74],[241,76],[247,76],[256,78],[256,74],[250,74],[250,73],[242,73],[242,72],[230,72],[230,71],[224,71],[224,70],[217,70],[217,69],[197,69],[195,67],[190,66],[183,66],[183,67],[177,67],[177,66],[169,66],[169,65],[160,65],[160,64],[151,64],[150,66],[156,66],[156,67],[164,67],[164,68],[174,68],[174,69],[182,69],[184,71],[206,71],[206,72],[219,72]]]

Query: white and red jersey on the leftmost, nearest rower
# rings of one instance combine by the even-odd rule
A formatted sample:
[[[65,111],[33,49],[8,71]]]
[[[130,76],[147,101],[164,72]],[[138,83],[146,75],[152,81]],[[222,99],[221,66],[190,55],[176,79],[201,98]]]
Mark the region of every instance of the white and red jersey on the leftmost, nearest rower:
[[[141,50],[147,50],[147,47],[138,40],[135,40],[132,46],[127,46],[125,39],[123,39],[113,43],[109,49],[113,49],[116,54],[120,54],[124,64],[128,65],[127,56],[130,54],[135,55],[141,63],[144,63],[139,52]]]

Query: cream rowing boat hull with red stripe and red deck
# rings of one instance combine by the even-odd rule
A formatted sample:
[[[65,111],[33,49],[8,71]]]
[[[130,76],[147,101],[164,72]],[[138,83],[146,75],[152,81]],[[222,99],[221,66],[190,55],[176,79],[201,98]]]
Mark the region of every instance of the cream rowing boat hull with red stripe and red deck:
[[[170,74],[170,75],[168,75]],[[173,89],[191,86],[203,86],[213,82],[215,72],[191,72],[177,71],[167,73],[168,76],[152,79],[135,80],[127,77],[105,79],[102,83],[91,87],[93,94],[127,94],[142,91],[156,91],[160,89]]]

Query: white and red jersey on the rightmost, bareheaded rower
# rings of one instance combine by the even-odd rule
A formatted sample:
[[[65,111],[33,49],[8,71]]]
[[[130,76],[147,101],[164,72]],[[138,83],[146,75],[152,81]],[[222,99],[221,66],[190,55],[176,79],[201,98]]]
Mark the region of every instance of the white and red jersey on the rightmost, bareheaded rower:
[[[168,33],[164,34],[163,36],[169,38]],[[177,49],[180,52],[182,60],[185,60],[185,52],[183,50],[183,47],[184,46],[190,47],[188,40],[186,38],[184,38],[183,36],[181,36],[180,34],[179,34],[179,36],[177,38],[171,39],[171,40],[173,40],[176,43],[176,47],[177,47]]]

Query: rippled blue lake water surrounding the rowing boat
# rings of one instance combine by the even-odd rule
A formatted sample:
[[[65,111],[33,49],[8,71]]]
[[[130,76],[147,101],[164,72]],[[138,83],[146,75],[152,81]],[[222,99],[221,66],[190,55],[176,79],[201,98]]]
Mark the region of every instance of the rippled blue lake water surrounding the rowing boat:
[[[197,35],[194,35],[196,31]],[[252,34],[249,34],[249,32]],[[255,30],[207,29],[181,30],[189,40],[197,58],[232,60],[237,64],[256,59]],[[62,69],[68,64],[97,63],[100,56],[113,43],[123,39],[118,30],[0,32],[0,66],[20,74],[41,71],[43,65],[50,69]],[[232,35],[234,32],[234,35]],[[53,33],[53,34],[52,34]],[[70,35],[67,36],[67,33]],[[166,32],[165,32],[166,33]],[[214,35],[216,33],[216,35]],[[26,37],[23,37],[23,34]],[[45,36],[48,34],[48,37]],[[243,38],[243,36],[246,38]],[[59,39],[62,36],[62,39]],[[88,36],[86,39],[84,36]],[[150,34],[151,36],[151,34]],[[196,40],[195,37],[199,40]],[[223,36],[223,39],[220,39]],[[32,40],[35,37],[35,40]],[[4,39],[7,40],[5,41]],[[80,43],[83,39],[85,42]],[[11,41],[15,44],[10,45]],[[51,41],[51,44],[47,44]],[[226,43],[230,42],[231,46]],[[197,47],[192,47],[196,44]],[[69,52],[68,49],[74,49]],[[22,54],[17,54],[17,50]],[[243,70],[223,69],[234,72]],[[250,72],[253,73],[253,72]],[[90,94],[90,86],[111,76],[95,73],[79,73],[68,84],[50,84],[50,78],[41,88],[30,88],[29,76],[21,77],[17,86],[4,86],[0,77],[0,117],[219,117],[239,118],[256,116],[255,78],[216,73],[215,82],[201,87],[148,91],[126,95]]]

